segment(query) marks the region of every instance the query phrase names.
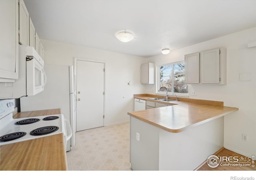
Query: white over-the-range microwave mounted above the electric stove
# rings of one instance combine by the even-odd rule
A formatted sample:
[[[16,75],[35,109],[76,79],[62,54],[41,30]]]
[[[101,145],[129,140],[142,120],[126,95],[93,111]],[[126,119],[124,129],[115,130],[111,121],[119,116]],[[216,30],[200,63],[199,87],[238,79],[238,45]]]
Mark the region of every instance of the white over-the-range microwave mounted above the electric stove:
[[[19,78],[15,82],[0,82],[0,99],[33,96],[46,84],[44,60],[34,47],[19,44]]]

